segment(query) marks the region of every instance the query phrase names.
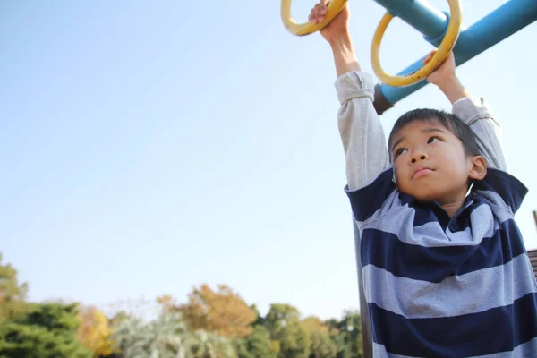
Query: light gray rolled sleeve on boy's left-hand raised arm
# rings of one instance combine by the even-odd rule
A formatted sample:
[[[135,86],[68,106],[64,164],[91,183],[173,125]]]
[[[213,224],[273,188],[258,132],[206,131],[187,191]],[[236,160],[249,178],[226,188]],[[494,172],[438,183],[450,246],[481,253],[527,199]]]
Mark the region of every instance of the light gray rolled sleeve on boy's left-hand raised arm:
[[[341,107],[337,124],[345,150],[348,190],[360,189],[388,169],[386,137],[373,107],[373,79],[367,72],[348,72],[337,78]]]

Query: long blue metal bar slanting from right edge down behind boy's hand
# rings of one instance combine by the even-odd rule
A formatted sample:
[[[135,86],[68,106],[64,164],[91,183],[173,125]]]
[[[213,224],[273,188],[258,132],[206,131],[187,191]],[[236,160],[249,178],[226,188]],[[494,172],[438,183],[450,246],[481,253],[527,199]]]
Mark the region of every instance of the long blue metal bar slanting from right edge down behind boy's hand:
[[[471,27],[461,32],[456,47],[453,49],[456,65],[464,64],[474,56],[493,47],[501,40],[513,35],[516,31],[524,29],[524,27],[533,21],[537,21],[537,1],[508,1],[492,13],[483,17],[482,20],[477,21]],[[431,38],[430,42],[433,45],[438,45],[434,43],[434,38]],[[398,74],[401,75],[417,71],[422,67],[422,60],[423,57]],[[398,100],[421,89],[427,83],[427,81],[423,80],[407,87],[391,87],[383,83],[380,85],[380,90],[388,102],[394,105]]]

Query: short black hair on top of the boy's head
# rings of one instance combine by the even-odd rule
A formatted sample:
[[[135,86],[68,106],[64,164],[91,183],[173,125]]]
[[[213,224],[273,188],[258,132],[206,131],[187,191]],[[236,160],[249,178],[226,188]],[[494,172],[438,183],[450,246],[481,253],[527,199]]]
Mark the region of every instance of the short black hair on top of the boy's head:
[[[394,124],[391,132],[389,133],[388,139],[390,158],[392,156],[391,145],[392,141],[394,140],[394,135],[396,135],[396,133],[399,132],[406,124],[411,124],[414,121],[438,121],[440,124],[445,126],[449,132],[455,134],[455,136],[463,142],[466,156],[472,157],[480,155],[475,133],[472,131],[470,126],[465,124],[459,117],[438,109],[418,108],[406,112],[396,120],[396,124]]]

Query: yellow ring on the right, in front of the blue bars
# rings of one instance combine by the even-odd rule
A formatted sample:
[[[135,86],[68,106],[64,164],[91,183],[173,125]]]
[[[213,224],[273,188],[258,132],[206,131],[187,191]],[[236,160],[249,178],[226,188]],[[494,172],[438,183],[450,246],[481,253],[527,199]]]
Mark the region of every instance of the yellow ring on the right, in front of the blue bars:
[[[371,42],[371,66],[373,72],[375,72],[380,81],[388,84],[388,86],[408,86],[429,76],[430,73],[446,60],[449,52],[455,47],[463,19],[460,0],[447,0],[447,3],[449,3],[451,16],[449,24],[447,25],[446,36],[442,40],[438,51],[432,56],[428,64],[425,64],[417,72],[409,73],[404,76],[392,76],[384,72],[382,66],[380,66],[380,41],[384,36],[386,28],[388,28],[389,21],[394,17],[391,13],[384,14]]]

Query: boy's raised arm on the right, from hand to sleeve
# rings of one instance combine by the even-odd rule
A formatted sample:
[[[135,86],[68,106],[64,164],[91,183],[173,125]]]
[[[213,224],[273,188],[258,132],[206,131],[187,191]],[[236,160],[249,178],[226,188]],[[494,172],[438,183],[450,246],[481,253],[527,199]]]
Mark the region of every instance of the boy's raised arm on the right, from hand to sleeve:
[[[424,63],[427,63],[431,55],[424,60]],[[428,81],[437,85],[446,95],[453,105],[453,114],[472,128],[487,166],[507,172],[499,123],[492,115],[485,100],[473,97],[470,91],[466,90],[458,80],[453,54],[447,57],[439,69],[430,74]]]

